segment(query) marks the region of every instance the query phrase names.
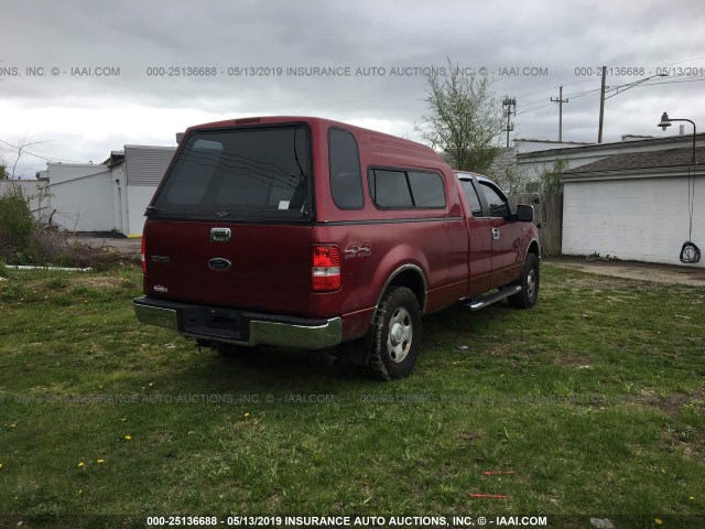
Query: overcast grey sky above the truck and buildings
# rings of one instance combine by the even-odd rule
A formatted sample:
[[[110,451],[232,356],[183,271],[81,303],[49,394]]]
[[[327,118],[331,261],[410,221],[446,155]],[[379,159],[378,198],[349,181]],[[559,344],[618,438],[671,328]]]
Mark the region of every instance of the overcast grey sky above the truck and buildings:
[[[564,141],[597,141],[603,65],[612,88],[670,74],[607,99],[604,141],[677,132],[657,129],[663,111],[705,131],[702,0],[3,0],[0,20],[10,164],[22,141],[52,161],[100,163],[124,144],[173,145],[189,125],[245,116],[319,116],[414,138],[422,68],[446,57],[486,68],[498,101],[517,99],[511,138],[557,140],[550,99],[563,85]],[[39,156],[20,160],[25,175],[45,166]]]

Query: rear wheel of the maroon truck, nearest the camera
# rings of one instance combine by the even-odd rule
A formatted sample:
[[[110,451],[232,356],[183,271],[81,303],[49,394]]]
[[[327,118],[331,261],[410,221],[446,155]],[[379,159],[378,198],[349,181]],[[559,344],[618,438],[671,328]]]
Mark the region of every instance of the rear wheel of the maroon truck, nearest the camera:
[[[408,376],[421,343],[421,309],[413,292],[390,287],[375,316],[372,347],[367,364],[371,378],[391,380]]]

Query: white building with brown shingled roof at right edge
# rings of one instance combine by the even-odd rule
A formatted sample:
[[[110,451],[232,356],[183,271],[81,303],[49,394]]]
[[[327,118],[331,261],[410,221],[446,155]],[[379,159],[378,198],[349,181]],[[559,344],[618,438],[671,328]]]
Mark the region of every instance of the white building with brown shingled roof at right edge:
[[[682,264],[688,183],[692,241],[705,251],[705,148],[696,169],[692,159],[693,148],[631,152],[563,173],[563,253]]]

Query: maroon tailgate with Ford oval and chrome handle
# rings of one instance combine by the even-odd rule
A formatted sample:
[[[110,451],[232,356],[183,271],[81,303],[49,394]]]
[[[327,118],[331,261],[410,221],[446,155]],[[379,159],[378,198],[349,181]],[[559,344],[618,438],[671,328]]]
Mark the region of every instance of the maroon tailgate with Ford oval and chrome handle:
[[[144,236],[150,298],[310,315],[311,225],[152,219]]]

